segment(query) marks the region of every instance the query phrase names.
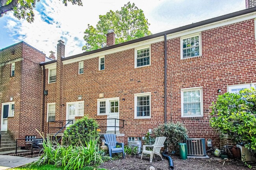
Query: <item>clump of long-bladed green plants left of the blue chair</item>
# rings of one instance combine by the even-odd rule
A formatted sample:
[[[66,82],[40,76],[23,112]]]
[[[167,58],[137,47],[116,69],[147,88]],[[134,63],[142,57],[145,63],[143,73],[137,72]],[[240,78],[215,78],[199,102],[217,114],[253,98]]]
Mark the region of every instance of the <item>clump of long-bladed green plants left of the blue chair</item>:
[[[89,141],[82,146],[61,146],[59,143],[52,144],[50,140],[43,142],[43,154],[34,165],[43,164],[63,166],[64,170],[76,170],[85,166],[98,166],[110,157],[103,156],[100,151],[98,134],[92,134]]]

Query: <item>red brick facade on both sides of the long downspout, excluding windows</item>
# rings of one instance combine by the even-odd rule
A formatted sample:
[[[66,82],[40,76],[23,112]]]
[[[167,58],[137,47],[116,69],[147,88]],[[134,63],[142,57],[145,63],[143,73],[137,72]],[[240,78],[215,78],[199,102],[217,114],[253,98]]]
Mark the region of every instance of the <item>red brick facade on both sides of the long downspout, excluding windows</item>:
[[[202,56],[185,60],[180,59],[180,38],[167,41],[167,121],[182,122],[189,137],[210,138],[218,146],[219,134],[209,126],[217,90],[223,94],[228,85],[256,82],[254,20],[203,31],[201,39]],[[98,71],[98,58],[84,60],[83,74],[78,74],[78,62],[63,65],[63,87],[58,83],[46,87],[48,103],[65,104],[58,119],[66,119],[66,103],[78,101],[78,95],[82,95],[85,115],[91,118],[106,118],[97,116],[99,93],[104,92],[104,98],[119,97],[124,139],[144,136],[164,122],[164,43],[151,44],[150,66],[134,69],[134,49],[128,49],[106,55],[104,71]],[[181,89],[191,87],[202,87],[202,118],[181,117]],[[56,99],[59,89],[62,102]],[[141,92],[151,92],[150,119],[134,119],[134,94]]]

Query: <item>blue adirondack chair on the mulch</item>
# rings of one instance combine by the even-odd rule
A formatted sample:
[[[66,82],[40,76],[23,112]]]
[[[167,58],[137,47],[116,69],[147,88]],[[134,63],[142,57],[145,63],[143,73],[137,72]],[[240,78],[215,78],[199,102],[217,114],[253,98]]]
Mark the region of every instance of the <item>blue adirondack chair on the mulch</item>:
[[[124,158],[124,143],[119,143],[116,140],[115,134],[104,134],[105,145],[108,146],[109,156],[112,157],[112,154],[122,152],[122,158]],[[120,148],[117,148],[116,145],[120,145]]]

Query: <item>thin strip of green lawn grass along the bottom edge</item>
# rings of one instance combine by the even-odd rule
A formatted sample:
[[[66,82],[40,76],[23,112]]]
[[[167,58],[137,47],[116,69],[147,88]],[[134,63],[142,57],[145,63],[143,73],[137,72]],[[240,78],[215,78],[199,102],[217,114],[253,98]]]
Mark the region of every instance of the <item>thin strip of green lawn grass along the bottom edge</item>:
[[[11,170],[64,170],[64,167],[56,167],[54,165],[40,165],[40,166],[24,166],[24,167],[19,167],[19,168],[13,168]],[[84,168],[81,168],[81,170],[106,170],[103,168],[95,168],[91,166],[86,166]]]

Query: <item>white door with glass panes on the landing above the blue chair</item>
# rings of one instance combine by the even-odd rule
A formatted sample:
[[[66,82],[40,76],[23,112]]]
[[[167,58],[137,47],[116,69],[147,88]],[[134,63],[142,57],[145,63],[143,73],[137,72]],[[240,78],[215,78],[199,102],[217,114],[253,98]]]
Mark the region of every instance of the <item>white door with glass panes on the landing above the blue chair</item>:
[[[119,100],[109,101],[107,131],[119,131]],[[115,128],[116,126],[116,128]]]

